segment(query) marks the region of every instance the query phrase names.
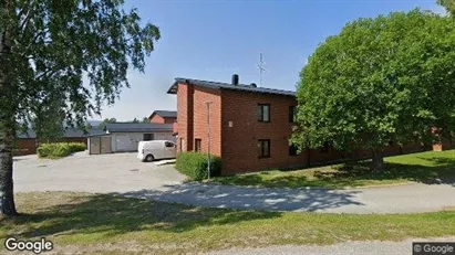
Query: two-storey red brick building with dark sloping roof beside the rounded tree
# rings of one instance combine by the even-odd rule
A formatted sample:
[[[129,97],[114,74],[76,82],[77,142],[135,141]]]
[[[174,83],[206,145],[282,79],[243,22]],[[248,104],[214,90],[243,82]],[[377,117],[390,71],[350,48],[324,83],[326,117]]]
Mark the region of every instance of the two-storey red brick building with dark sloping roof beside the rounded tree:
[[[290,145],[296,93],[242,85],[176,78],[178,151],[208,151],[223,159],[223,174],[329,163],[347,156],[330,147],[300,155]],[[209,105],[209,107],[207,106]],[[387,155],[420,151],[420,146],[391,146]],[[366,152],[359,156],[369,156]]]

